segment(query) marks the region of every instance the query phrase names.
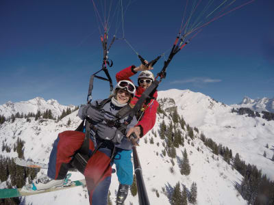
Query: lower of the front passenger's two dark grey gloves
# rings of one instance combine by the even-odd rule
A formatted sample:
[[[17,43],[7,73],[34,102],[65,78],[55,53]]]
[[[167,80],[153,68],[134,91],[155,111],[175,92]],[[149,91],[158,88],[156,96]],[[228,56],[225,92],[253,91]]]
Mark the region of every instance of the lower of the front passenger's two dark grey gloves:
[[[110,127],[106,124],[98,124],[97,125],[97,134],[101,139],[111,140],[114,143],[121,143],[123,139],[123,134],[121,131],[117,130],[117,128]]]

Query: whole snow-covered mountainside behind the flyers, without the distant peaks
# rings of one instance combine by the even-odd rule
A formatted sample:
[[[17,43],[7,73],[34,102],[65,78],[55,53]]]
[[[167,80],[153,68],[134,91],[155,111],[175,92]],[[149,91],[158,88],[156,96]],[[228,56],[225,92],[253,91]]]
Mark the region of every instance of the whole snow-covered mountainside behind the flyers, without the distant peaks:
[[[273,161],[269,159],[274,149],[273,121],[268,122],[262,118],[249,118],[245,115],[231,113],[232,107],[190,90],[158,92],[158,101],[164,113],[157,114],[155,126],[140,140],[140,146],[137,148],[151,204],[170,204],[169,197],[177,182],[180,183],[181,190],[184,185],[188,191],[190,191],[192,182],[197,183],[197,204],[247,204],[247,201],[234,187],[235,184],[241,183],[242,175],[225,162],[222,156],[212,154],[212,150],[205,146],[199,138],[201,133],[212,138],[216,143],[222,143],[223,146],[232,149],[233,155],[238,152],[241,159],[257,165],[263,173],[266,173],[272,180],[274,179]],[[176,108],[187,124],[193,128],[196,127],[193,139],[190,139],[186,126],[182,128],[179,124],[174,124],[171,114]],[[52,144],[58,133],[74,130],[81,122],[77,117],[77,111],[62,118],[59,122],[30,119],[31,122],[27,122],[24,118],[16,118],[13,123],[6,121],[1,124],[0,145],[2,147],[3,143],[6,143],[12,147],[20,137],[25,141],[25,159],[30,158],[40,163],[49,161]],[[69,119],[71,124],[67,125]],[[181,131],[184,137],[184,146],[175,149],[177,156],[172,160],[164,154],[166,142],[160,138],[159,134],[160,125],[163,122],[167,126],[172,122],[174,131]],[[262,124],[265,125],[262,126]],[[272,150],[265,148],[266,143],[269,143]],[[188,176],[182,175],[179,167],[184,149],[188,153],[191,167]],[[262,156],[264,151],[267,157]],[[10,157],[17,156],[13,149],[10,152],[4,150],[1,154]],[[46,173],[41,169],[38,176],[43,172]],[[84,178],[77,172],[72,174],[72,180]],[[110,198],[113,204],[118,186],[116,174],[112,174]],[[5,182],[0,183],[0,189],[4,187]],[[27,196],[23,200],[25,204],[34,205],[89,204],[86,188],[82,187]],[[138,204],[138,196],[134,197],[129,192],[125,204]]]

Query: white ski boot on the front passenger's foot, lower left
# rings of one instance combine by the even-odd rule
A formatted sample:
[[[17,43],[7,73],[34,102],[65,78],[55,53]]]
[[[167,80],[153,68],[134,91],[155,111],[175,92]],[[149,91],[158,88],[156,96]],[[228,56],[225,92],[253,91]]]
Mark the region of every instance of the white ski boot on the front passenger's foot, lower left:
[[[41,191],[45,189],[51,189],[54,187],[67,187],[71,185],[71,180],[69,178],[71,177],[71,174],[67,174],[66,178],[62,180],[53,180],[52,178],[49,178],[47,175],[42,176],[38,178],[35,182],[32,182],[32,184],[27,184],[22,188],[22,191]]]

